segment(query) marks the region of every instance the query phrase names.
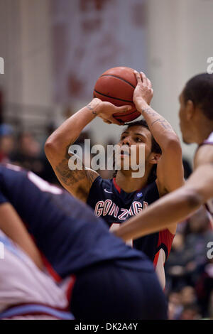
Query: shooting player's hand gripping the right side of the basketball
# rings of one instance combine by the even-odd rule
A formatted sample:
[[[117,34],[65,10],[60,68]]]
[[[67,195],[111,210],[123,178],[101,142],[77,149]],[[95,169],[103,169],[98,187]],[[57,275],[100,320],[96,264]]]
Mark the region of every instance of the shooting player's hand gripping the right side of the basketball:
[[[146,77],[143,72],[135,71],[136,79],[138,84],[133,92],[133,102],[137,107],[138,102],[151,103],[153,98],[153,88],[151,81]]]

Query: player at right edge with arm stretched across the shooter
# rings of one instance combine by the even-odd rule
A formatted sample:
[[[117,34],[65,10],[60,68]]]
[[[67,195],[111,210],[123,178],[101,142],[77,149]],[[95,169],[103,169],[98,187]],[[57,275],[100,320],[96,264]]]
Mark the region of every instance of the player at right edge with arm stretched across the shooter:
[[[122,225],[124,240],[162,230],[184,220],[205,204],[213,227],[213,75],[192,77],[180,97],[180,129],[186,144],[197,143],[195,171],[185,185]]]

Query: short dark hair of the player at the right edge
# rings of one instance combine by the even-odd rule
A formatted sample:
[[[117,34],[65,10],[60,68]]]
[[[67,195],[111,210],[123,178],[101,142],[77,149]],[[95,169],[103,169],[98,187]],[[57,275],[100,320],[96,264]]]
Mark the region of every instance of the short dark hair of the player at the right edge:
[[[205,117],[213,120],[213,74],[202,73],[192,77],[182,92],[185,103],[191,100]]]

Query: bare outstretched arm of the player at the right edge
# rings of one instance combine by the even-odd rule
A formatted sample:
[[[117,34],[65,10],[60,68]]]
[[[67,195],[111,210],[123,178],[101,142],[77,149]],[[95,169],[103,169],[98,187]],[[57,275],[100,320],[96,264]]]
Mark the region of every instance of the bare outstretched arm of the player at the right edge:
[[[163,196],[141,215],[122,224],[114,233],[124,239],[143,237],[182,222],[200,205],[213,198],[213,146],[202,146],[195,157],[196,169],[178,190]]]

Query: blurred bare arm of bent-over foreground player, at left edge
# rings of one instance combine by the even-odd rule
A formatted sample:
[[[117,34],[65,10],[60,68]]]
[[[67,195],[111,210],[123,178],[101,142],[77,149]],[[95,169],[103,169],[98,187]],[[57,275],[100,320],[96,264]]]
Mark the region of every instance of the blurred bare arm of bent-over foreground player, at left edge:
[[[39,269],[43,269],[40,253],[18,216],[18,213],[10,203],[0,205],[0,217],[0,230],[12,239],[13,242],[16,242],[16,244],[31,257]]]

